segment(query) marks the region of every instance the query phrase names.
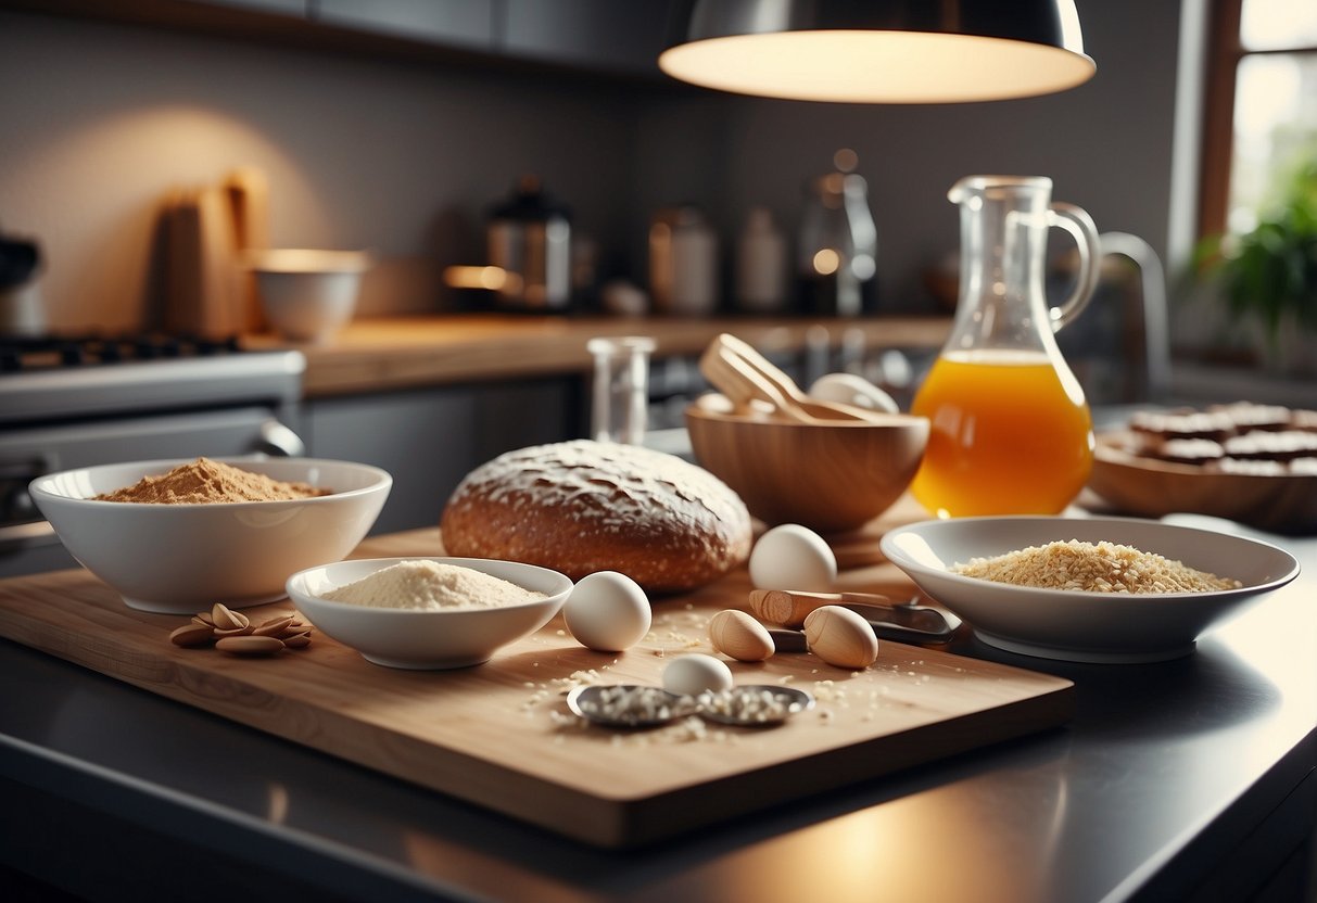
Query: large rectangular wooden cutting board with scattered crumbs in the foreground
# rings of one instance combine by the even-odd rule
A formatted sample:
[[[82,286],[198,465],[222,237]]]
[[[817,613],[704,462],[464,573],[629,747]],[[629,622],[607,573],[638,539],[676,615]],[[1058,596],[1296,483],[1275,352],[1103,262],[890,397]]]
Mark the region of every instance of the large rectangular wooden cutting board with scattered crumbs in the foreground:
[[[367,540],[356,557],[440,554],[437,530]],[[84,570],[0,580],[0,636],[320,752],[601,846],[670,837],[790,799],[1062,724],[1069,681],[882,642],[863,673],[809,654],[731,662],[738,682],[810,690],[814,711],[769,729],[678,724],[616,733],[577,724],[577,682],[660,683],[705,625],[744,607],[735,573],[655,603],[623,654],[577,645],[561,617],[458,671],[396,671],[324,634],[273,658],[169,642],[183,616],[126,608]],[[853,588],[853,587],[852,587]],[[248,609],[257,619],[287,602]]]

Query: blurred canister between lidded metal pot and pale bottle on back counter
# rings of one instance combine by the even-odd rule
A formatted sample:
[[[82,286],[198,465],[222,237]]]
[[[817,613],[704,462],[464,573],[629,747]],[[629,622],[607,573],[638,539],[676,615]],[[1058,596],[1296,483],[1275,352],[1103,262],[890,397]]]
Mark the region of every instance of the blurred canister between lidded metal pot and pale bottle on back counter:
[[[649,226],[649,292],[658,313],[718,308],[718,233],[698,207],[658,211]]]

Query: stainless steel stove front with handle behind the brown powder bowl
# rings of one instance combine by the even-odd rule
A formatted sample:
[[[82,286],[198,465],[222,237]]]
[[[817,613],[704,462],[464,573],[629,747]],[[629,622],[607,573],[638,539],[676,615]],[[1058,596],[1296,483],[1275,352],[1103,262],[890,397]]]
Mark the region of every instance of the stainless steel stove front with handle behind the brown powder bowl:
[[[300,351],[233,338],[0,336],[0,577],[76,562],[28,495],[70,467],[238,454],[302,455]]]

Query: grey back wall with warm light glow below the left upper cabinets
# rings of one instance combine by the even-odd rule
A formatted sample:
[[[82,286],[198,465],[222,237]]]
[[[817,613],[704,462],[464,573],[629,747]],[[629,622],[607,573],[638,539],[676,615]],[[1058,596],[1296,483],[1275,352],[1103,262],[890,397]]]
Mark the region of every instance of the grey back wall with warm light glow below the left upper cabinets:
[[[0,229],[42,242],[62,328],[134,326],[162,200],[244,165],[275,245],[383,258],[365,312],[433,308],[433,270],[485,262],[483,211],[523,171],[587,232],[630,222],[632,126],[605,88],[16,13],[0,84]]]

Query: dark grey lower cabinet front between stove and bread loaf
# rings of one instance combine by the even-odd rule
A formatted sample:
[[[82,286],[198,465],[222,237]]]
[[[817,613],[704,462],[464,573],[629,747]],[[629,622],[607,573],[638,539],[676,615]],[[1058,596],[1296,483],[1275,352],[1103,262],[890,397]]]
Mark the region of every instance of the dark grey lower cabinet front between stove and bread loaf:
[[[394,477],[374,533],[433,527],[462,477],[503,452],[577,438],[578,380],[491,382],[309,399],[309,454]]]

